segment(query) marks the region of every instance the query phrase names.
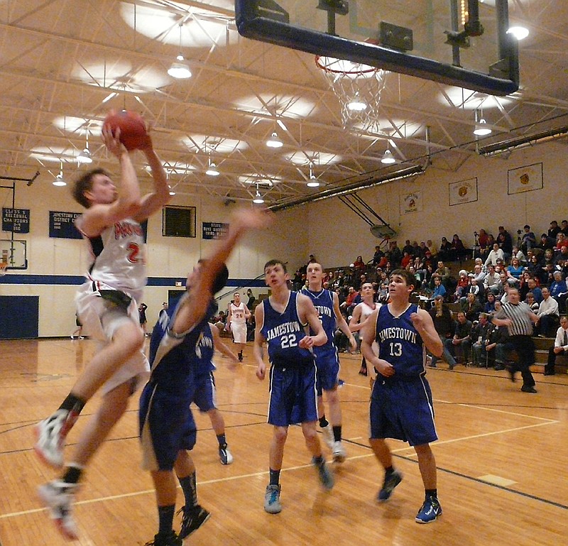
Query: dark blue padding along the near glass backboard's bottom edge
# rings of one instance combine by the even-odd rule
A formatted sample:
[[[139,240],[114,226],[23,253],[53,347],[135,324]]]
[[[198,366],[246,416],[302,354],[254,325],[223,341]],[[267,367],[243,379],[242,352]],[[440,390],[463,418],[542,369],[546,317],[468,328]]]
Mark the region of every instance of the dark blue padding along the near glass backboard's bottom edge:
[[[312,31],[256,16],[256,0],[235,0],[236,27],[241,36],[261,42],[282,45],[285,48],[305,51],[314,55],[361,62],[383,70],[434,80],[448,85],[466,87],[494,95],[507,95],[518,90],[518,55],[513,36],[508,35],[508,73],[511,80],[447,65],[432,59],[409,55],[383,48],[380,45],[361,43],[319,31]]]

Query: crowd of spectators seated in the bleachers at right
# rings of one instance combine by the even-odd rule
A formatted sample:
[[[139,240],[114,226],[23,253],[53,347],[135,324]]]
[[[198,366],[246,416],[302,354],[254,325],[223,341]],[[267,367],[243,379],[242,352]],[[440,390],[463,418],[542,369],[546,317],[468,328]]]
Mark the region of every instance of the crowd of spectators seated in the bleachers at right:
[[[538,239],[527,224],[517,231],[515,243],[503,226],[498,227],[496,238],[485,229],[474,236],[471,249],[457,234],[451,241],[442,237],[437,248],[431,240],[418,244],[407,239],[402,248],[397,241],[387,241],[386,249],[375,247],[371,260],[357,256],[350,266],[325,272],[324,288],[337,293],[340,310],[349,322],[361,302],[361,285],[372,283],[375,301],[386,302],[391,271],[405,268],[415,276],[415,297],[430,310],[435,324],[445,324],[439,332],[444,356],[457,356],[464,364],[485,366],[491,361],[501,369],[506,329],[494,327],[491,315],[507,301],[508,288],[518,288],[521,300],[539,316],[535,335],[554,337],[559,316],[567,312],[568,221],[563,220],[561,226],[550,222],[550,229]],[[466,263],[473,264],[471,271],[463,267]],[[305,285],[305,267],[296,271],[293,285],[295,290]],[[457,315],[450,327],[447,312],[443,320],[437,315],[448,304],[454,304]],[[461,337],[468,329],[469,334]]]

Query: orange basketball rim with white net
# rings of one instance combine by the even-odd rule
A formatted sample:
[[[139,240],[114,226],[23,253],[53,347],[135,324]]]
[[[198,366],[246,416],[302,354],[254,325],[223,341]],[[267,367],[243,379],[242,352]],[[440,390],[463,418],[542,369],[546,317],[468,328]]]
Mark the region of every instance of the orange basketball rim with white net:
[[[315,64],[339,99],[344,127],[378,133],[378,104],[386,70],[323,55],[315,56]]]

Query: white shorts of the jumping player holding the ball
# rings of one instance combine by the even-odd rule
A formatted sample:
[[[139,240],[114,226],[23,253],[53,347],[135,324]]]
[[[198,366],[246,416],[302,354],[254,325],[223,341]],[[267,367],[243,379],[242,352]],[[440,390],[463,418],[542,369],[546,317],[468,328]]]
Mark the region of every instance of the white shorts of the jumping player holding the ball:
[[[100,351],[112,339],[114,332],[127,322],[133,322],[140,327],[138,319],[138,304],[131,300],[127,310],[114,305],[93,291],[92,281],[81,285],[75,295],[77,315],[89,335],[97,341],[97,351]],[[102,393],[107,394],[126,381],[132,381],[133,390],[140,388],[150,377],[150,364],[142,351],[133,354],[109,380],[102,386]]]

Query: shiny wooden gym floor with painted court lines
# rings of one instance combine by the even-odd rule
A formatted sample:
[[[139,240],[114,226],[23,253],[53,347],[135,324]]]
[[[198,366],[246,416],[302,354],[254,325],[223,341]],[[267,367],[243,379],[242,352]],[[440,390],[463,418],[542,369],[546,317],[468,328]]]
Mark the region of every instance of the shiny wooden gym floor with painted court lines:
[[[60,545],[35,494],[55,472],[33,452],[33,425],[58,407],[93,343],[0,342],[0,543]],[[443,515],[418,525],[422,482],[413,449],[391,442],[405,479],[378,505],[383,479],[367,444],[368,382],[359,356],[342,354],[341,389],[348,459],[336,486],[320,488],[301,431],[291,427],[281,475],[283,511],[263,510],[268,483],[268,383],[254,375],[251,346],[236,371],[217,359],[219,408],[234,463],[222,466],[207,415],[193,456],[200,503],[212,518],[186,540],[200,546],[559,545],[568,536],[568,375],[536,375],[538,394],[520,392],[506,372],[458,366],[428,371],[439,441],[432,444]],[[67,455],[92,400],[68,437]],[[87,470],[75,515],[84,546],[143,545],[157,515],[151,479],[139,467],[137,397]],[[327,449],[327,448],[326,448]],[[178,496],[182,503],[182,496]],[[175,521],[179,528],[179,519]]]

